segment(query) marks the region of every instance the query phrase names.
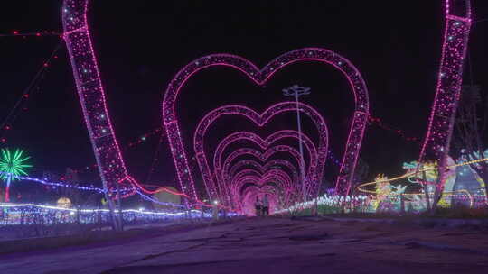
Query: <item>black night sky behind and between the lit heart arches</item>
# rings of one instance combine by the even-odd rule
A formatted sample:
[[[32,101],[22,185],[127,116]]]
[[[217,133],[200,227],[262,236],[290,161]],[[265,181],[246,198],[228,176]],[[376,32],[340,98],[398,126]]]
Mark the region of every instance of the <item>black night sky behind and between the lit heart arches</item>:
[[[61,0],[9,1],[0,9],[0,33],[61,32]],[[371,114],[384,123],[423,138],[433,101],[438,70],[444,1],[91,1],[89,22],[108,107],[123,147],[161,121],[161,101],[167,83],[188,62],[210,53],[227,52],[264,66],[289,50],[321,47],[333,50],[361,70],[369,88]],[[117,3],[117,5],[116,5]],[[476,19],[488,17],[485,1],[474,1]],[[486,90],[484,66],[488,22],[474,25],[470,41],[473,79]],[[1,37],[0,117],[14,107],[43,59],[59,39]],[[33,157],[35,172],[63,172],[95,163],[65,46],[40,85],[6,132],[6,146],[23,148]],[[468,70],[466,70],[468,72]],[[469,73],[465,78],[469,78]],[[202,116],[215,107],[239,104],[258,111],[287,100],[281,89],[298,84],[312,88],[303,97],[318,109],[329,126],[331,149],[342,159],[352,114],[353,97],[347,81],[331,67],[315,63],[292,65],[277,73],[266,87],[256,87],[230,68],[211,68],[183,87],[177,101],[183,138],[192,156],[192,132]],[[295,128],[295,116],[283,115],[261,134]],[[316,138],[314,127],[305,132]],[[256,131],[236,118],[215,123],[207,150],[235,130]],[[4,134],[5,132],[2,132]],[[125,148],[128,169],[145,181],[158,138]],[[416,160],[419,146],[376,125],[367,128],[361,159],[370,178],[382,172],[402,172],[401,163]],[[174,185],[175,174],[164,139],[151,183]],[[193,174],[200,178],[198,169]],[[195,172],[196,171],[196,172]],[[337,168],[329,161],[325,178]],[[90,177],[89,174],[85,178]]]

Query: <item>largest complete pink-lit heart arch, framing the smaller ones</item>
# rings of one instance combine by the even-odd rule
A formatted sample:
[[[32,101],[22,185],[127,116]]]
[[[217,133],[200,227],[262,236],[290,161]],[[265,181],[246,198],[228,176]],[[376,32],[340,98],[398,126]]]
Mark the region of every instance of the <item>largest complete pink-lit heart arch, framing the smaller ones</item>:
[[[181,138],[181,131],[175,111],[177,96],[181,92],[181,88],[184,86],[185,82],[203,68],[226,66],[236,68],[260,86],[266,84],[267,79],[271,78],[271,76],[273,76],[280,68],[284,68],[288,64],[303,61],[318,61],[332,65],[333,68],[337,68],[339,71],[343,72],[344,77],[348,79],[352,87],[355,111],[348,141],[346,143],[340,175],[337,178],[338,191],[343,194],[346,194],[349,191],[353,170],[355,169],[361,148],[363,132],[369,115],[368,91],[364,80],[361,77],[361,73],[349,60],[344,59],[341,55],[336,54],[333,51],[318,48],[306,48],[287,52],[277,57],[277,59],[272,60],[262,69],[258,69],[249,60],[235,55],[213,54],[192,61],[176,74],[166,88],[164,94],[163,119],[178,179],[184,191],[190,191],[190,189],[192,189],[191,191],[193,195],[196,196],[192,173],[188,165],[186,153],[183,149],[183,140]],[[204,164],[205,161],[202,157],[202,154],[197,155],[199,162]],[[201,167],[201,169],[207,168],[208,167]],[[207,174],[204,175],[206,176]],[[211,181],[211,178],[207,177],[204,178],[204,180],[207,184],[206,187],[209,196],[216,196],[217,190],[215,185],[208,183]]]

